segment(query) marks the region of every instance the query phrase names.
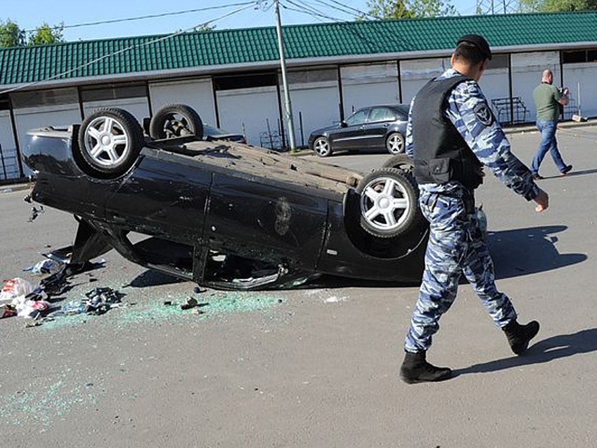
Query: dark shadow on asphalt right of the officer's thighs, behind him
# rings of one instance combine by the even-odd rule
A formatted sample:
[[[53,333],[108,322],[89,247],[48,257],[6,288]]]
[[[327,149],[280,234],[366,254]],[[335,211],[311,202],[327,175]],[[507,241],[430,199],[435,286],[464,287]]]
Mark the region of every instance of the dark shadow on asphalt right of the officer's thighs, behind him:
[[[586,254],[558,252],[556,234],[566,229],[559,225],[490,232],[488,246],[496,279],[551,271],[586,260]]]

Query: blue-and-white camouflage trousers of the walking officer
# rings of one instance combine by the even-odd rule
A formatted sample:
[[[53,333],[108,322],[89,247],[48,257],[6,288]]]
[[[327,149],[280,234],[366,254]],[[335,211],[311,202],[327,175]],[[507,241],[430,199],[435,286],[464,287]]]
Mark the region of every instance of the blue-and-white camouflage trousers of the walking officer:
[[[439,318],[456,299],[462,274],[496,326],[503,327],[516,318],[512,302],[496,288],[493,261],[479,230],[472,194],[463,187],[447,194],[421,189],[419,205],[430,223],[429,243],[405,351],[429,349]]]

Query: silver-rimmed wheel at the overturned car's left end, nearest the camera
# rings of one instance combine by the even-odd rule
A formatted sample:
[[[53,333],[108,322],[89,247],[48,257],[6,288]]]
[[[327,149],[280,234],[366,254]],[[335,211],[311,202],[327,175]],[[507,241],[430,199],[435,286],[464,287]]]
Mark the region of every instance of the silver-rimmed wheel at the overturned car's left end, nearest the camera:
[[[108,177],[124,174],[143,148],[143,130],[137,119],[116,108],[97,109],[79,129],[79,153],[93,173]]]

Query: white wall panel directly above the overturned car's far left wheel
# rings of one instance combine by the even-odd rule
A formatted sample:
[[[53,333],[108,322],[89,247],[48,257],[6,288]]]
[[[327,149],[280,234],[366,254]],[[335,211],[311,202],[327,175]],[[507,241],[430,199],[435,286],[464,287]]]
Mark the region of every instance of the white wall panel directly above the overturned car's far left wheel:
[[[216,108],[214,107],[211,78],[151,82],[149,98],[154,114],[167,104],[184,104],[195,109],[207,124],[216,125]]]

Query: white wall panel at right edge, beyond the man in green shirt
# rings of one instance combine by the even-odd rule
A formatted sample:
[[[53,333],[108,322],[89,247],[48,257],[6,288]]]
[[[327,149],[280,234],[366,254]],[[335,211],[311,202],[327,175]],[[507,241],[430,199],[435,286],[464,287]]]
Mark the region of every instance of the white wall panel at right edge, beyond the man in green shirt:
[[[583,116],[597,115],[597,62],[564,65],[564,85],[570,89],[570,99],[578,109],[571,111]],[[580,94],[580,96],[579,96]],[[568,117],[567,117],[568,118]]]

